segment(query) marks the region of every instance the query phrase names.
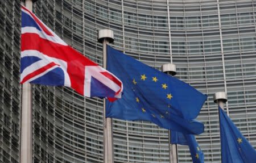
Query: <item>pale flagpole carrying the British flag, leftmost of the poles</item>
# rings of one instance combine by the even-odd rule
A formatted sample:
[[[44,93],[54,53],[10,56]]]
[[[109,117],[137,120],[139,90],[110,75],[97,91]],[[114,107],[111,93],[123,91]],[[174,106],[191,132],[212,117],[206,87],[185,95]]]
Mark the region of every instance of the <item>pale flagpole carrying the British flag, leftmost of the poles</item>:
[[[32,0],[25,6],[32,11]],[[20,163],[32,163],[32,94],[30,83],[22,85],[22,111],[20,126]]]

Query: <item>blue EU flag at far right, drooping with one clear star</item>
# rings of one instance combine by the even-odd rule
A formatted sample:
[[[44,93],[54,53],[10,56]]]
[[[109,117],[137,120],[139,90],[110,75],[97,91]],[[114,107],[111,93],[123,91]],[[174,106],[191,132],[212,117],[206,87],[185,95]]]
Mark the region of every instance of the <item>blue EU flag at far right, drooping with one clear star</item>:
[[[224,110],[218,106],[220,114],[221,162],[254,163],[256,151],[235,126]]]

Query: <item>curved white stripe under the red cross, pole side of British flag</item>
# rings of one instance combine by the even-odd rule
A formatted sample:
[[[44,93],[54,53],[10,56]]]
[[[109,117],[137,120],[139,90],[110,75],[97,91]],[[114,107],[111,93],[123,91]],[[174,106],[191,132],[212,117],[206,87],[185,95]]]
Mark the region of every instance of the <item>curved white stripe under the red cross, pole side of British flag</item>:
[[[35,51],[35,50],[27,50],[27,51],[22,51],[21,52],[21,57],[38,57],[40,59],[42,59],[43,61],[47,61],[47,64],[50,62],[55,62],[56,64],[60,65],[60,68],[63,70],[64,72],[64,86],[71,86],[71,80],[69,78],[69,75],[67,73],[67,62],[63,61],[63,60],[58,60],[57,58],[53,58],[53,57],[48,57],[47,55],[44,55],[43,53],[40,53],[39,51]],[[24,72],[24,71],[23,71]],[[22,74],[23,74],[22,72]],[[22,81],[23,78],[21,78],[22,74],[20,74],[20,81]],[[25,75],[24,75],[25,77]]]

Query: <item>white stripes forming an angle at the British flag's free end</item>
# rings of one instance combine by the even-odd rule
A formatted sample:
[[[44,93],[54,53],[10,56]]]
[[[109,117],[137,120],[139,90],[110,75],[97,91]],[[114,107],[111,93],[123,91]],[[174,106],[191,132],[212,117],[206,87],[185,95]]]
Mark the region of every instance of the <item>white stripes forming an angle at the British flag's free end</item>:
[[[90,96],[90,81],[92,77],[96,78],[98,81],[101,81],[104,85],[108,86],[113,91],[117,92],[120,87],[110,80],[109,78],[102,76],[101,72],[106,70],[100,66],[85,66],[85,85],[84,85],[84,94]],[[108,72],[110,73],[110,72]],[[112,73],[110,73],[112,74]],[[112,74],[114,76],[114,74]],[[115,76],[114,76],[115,77]],[[122,89],[122,87],[121,87]],[[121,98],[121,94],[115,95],[116,98]]]

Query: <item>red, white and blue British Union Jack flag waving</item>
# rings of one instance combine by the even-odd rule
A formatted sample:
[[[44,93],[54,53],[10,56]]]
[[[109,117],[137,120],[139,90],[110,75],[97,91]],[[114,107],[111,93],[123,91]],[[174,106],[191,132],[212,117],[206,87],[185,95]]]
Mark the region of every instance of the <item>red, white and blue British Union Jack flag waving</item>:
[[[20,83],[72,87],[86,97],[120,98],[122,82],[81,55],[22,6]]]

